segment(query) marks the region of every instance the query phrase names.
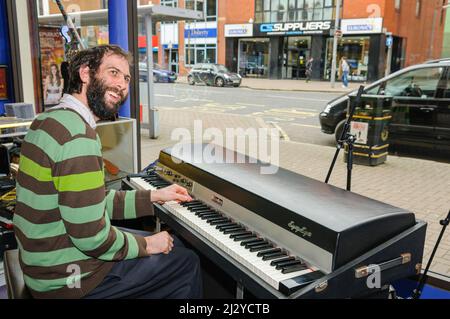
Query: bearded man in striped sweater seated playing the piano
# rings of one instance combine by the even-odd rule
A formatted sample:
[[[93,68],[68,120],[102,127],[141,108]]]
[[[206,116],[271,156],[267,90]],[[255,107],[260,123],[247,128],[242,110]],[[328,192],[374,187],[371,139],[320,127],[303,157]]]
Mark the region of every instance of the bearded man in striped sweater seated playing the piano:
[[[129,54],[112,45],[76,54],[68,94],[36,118],[22,145],[14,216],[24,280],[35,298],[201,298],[198,257],[167,232],[110,219],[190,201],[186,189],[106,191],[96,122],[126,100]]]

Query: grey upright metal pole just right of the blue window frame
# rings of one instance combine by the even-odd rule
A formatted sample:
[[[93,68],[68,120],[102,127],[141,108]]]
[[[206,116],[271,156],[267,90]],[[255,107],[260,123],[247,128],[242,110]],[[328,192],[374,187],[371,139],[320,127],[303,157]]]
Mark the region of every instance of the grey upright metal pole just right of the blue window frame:
[[[151,139],[158,138],[159,132],[157,129],[156,109],[154,108],[155,93],[153,87],[153,26],[152,16],[147,14],[145,16],[145,30],[147,37],[147,99],[148,99],[148,125],[149,136]]]

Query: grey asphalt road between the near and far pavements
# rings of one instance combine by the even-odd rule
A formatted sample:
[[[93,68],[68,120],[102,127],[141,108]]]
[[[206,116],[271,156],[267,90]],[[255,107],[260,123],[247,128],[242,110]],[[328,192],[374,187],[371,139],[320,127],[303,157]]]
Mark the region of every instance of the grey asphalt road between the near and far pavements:
[[[141,83],[141,104],[147,104],[146,83]],[[334,137],[320,131],[319,113],[331,93],[216,88],[205,85],[155,84],[158,109],[192,109],[262,118],[278,128],[286,140],[334,146]]]

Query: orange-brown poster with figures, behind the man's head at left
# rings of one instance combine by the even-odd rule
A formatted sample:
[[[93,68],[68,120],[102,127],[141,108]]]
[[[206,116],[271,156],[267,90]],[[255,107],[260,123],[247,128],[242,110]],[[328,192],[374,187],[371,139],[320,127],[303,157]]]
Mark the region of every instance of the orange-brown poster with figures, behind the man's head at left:
[[[60,29],[52,27],[39,28],[39,40],[44,104],[52,106],[59,103],[64,88],[61,63],[65,57],[65,40]]]

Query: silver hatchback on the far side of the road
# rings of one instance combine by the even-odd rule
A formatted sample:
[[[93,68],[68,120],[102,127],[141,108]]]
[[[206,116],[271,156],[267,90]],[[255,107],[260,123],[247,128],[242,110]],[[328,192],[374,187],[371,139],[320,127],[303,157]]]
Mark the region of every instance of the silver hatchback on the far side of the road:
[[[188,74],[188,83],[195,85],[196,83],[205,83],[206,85],[215,86],[234,86],[241,85],[242,77],[228,71],[221,64],[202,63],[195,65]]]

